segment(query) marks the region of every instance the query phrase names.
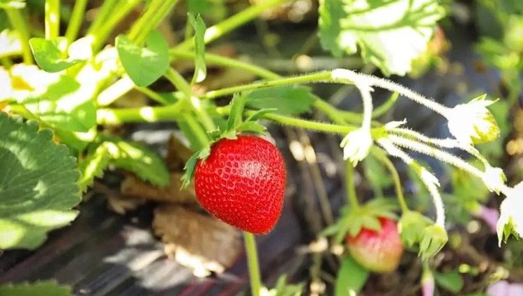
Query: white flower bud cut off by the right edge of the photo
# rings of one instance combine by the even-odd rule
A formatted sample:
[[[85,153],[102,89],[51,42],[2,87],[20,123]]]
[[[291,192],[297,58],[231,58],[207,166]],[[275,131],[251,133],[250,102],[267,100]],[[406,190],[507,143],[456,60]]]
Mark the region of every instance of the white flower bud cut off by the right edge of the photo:
[[[499,244],[510,235],[523,237],[523,182],[506,191],[501,203],[497,233]]]

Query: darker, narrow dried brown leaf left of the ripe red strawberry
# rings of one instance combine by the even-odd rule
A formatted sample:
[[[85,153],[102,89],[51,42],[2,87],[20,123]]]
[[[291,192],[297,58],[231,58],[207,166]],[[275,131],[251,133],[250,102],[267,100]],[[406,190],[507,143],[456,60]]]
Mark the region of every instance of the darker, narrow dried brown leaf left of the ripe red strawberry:
[[[123,198],[139,198],[166,203],[196,203],[195,189],[192,185],[181,189],[182,172],[171,173],[171,183],[168,187],[158,188],[129,174],[121,182]]]

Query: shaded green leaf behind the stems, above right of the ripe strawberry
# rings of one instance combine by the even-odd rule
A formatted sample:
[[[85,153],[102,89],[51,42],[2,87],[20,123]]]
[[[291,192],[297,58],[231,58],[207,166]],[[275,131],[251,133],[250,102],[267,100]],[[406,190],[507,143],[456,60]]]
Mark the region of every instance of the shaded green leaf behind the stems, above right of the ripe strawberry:
[[[243,93],[247,105],[255,109],[276,109],[275,113],[293,115],[310,111],[317,97],[306,86],[275,86]]]

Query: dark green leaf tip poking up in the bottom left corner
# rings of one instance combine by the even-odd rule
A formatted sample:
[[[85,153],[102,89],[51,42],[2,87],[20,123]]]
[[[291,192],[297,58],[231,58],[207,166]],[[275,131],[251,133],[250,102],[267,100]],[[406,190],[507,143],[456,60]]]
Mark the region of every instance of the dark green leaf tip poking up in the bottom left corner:
[[[55,281],[36,283],[8,283],[0,285],[2,296],[73,296],[69,286],[59,285]]]

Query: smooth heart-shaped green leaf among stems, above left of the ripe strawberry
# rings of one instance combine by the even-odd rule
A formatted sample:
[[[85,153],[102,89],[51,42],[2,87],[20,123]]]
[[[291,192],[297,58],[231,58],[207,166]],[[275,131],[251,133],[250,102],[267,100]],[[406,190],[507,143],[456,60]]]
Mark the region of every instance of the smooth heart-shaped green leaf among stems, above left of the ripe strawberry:
[[[169,68],[169,45],[158,31],[152,31],[145,47],[139,47],[125,35],[116,37],[121,64],[137,86],[148,86]]]

